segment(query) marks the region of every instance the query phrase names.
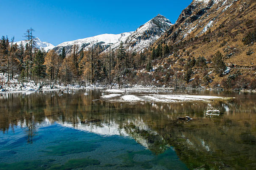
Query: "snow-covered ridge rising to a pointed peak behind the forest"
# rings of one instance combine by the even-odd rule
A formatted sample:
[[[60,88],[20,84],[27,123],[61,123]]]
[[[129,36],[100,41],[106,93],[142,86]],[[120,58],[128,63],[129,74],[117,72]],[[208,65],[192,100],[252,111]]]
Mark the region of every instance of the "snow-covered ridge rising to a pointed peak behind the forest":
[[[97,47],[100,46],[102,51],[105,51],[108,50],[109,42],[113,43],[111,48],[116,49],[122,41],[124,42],[125,48],[129,51],[141,51],[144,48],[148,48],[171,26],[172,23],[170,20],[163,15],[158,14],[156,17],[137,28],[136,31],[121,34],[101,34],[94,37],[62,42],[57,45],[54,50],[60,54],[62,48],[65,48],[67,54],[70,54],[73,45],[78,45],[80,50],[81,48],[89,49],[93,44]]]

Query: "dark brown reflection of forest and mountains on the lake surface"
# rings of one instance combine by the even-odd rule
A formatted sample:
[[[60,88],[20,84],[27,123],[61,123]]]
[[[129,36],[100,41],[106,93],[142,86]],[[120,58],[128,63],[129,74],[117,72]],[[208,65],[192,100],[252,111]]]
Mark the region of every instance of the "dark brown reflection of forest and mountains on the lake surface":
[[[173,147],[189,169],[252,169],[256,162],[256,95],[250,93],[186,91],[191,94],[232,96],[236,99],[183,103],[119,103],[99,99],[100,91],[5,94],[0,102],[0,130],[26,127],[27,143],[37,129],[54,122],[102,136],[128,136],[155,154]],[[53,95],[54,94],[54,95]],[[218,108],[220,116],[203,111]],[[192,121],[178,121],[190,116]]]

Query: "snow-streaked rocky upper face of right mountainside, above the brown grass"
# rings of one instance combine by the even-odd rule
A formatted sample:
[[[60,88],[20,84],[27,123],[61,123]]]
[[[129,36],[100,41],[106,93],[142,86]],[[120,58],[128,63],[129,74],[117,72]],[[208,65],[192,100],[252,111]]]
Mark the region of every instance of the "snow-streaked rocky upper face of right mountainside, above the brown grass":
[[[180,14],[177,22],[159,41],[174,44],[189,35],[200,36],[209,28],[221,24],[221,18],[228,18],[244,10],[248,4],[242,0],[193,0]],[[246,1],[246,0],[245,0]],[[229,9],[229,10],[228,10]],[[228,10],[228,11],[227,11]],[[230,13],[232,11],[232,13]]]

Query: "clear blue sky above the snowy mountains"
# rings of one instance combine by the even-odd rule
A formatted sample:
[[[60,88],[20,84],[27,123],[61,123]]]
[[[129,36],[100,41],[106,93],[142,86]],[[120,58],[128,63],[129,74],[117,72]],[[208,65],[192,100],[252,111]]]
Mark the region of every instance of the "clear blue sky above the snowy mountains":
[[[192,0],[0,0],[0,36],[23,40],[26,29],[58,45],[99,34],[135,31],[157,14],[175,23]]]

